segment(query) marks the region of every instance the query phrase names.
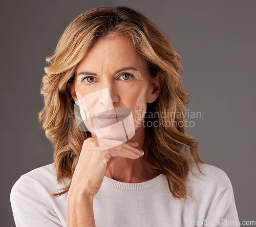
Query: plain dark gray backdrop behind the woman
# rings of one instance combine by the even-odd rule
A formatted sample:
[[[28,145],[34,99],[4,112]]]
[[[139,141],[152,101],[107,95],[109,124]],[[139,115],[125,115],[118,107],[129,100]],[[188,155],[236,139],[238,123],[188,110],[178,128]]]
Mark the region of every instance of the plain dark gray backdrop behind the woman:
[[[99,6],[125,5],[150,18],[183,58],[190,133],[202,160],[229,176],[239,219],[256,220],[255,1],[9,1],[1,4],[1,226],[14,226],[9,194],[20,175],[52,163],[37,123],[45,57],[69,22]]]

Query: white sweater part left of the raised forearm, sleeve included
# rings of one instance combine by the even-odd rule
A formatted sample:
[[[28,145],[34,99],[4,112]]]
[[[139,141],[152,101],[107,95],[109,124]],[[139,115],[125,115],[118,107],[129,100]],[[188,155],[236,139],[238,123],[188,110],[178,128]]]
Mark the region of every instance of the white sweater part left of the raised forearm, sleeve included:
[[[42,166],[22,175],[10,193],[10,202],[16,226],[63,226],[65,196],[55,198],[66,187],[68,180],[58,184],[54,164]],[[62,220],[65,223],[65,219]]]

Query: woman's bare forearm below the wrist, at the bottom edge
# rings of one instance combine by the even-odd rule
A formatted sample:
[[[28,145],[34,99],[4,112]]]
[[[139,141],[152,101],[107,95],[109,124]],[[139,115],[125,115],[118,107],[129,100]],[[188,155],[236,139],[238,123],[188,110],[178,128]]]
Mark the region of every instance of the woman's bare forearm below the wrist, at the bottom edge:
[[[95,227],[93,214],[93,197],[68,196],[67,201],[68,227]]]

